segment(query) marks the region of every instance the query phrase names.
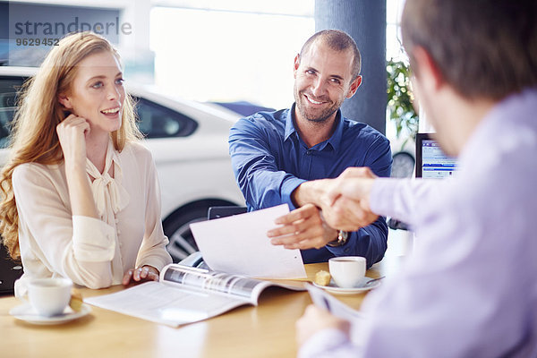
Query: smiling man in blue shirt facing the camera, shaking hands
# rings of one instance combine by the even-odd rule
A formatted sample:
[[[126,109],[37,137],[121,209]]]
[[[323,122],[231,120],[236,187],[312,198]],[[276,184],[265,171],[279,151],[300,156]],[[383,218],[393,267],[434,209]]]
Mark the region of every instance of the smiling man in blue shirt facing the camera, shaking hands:
[[[275,231],[270,236],[275,244],[301,249],[305,263],[357,255],[371,266],[387,248],[383,217],[353,233],[328,226],[322,217],[323,187],[310,182],[335,178],[349,166],[369,166],[376,175],[390,175],[386,137],[345,118],[339,109],[360,87],[360,67],[353,38],[343,31],[320,31],[294,58],[293,107],[243,118],[230,131],[234,175],[248,209],[282,203],[299,208],[303,221],[293,234]]]

